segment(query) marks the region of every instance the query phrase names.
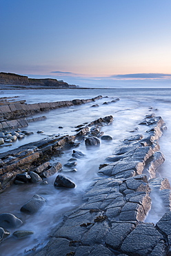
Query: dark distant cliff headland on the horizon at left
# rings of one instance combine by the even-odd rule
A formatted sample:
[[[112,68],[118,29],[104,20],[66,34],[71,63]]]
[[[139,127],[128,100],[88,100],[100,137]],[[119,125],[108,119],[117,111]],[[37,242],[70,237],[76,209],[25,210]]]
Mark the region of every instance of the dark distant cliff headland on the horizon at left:
[[[68,84],[62,80],[46,78],[46,79],[34,79],[28,78],[25,75],[17,75],[14,73],[0,73],[0,84],[4,85],[22,85],[22,86],[46,86],[57,88],[76,88],[74,84]]]

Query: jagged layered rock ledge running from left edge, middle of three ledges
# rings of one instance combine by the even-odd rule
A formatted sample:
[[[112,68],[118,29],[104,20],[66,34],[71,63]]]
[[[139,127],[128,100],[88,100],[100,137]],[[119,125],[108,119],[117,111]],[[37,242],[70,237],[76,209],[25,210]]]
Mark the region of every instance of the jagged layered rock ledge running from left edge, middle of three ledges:
[[[90,122],[86,129],[87,136],[91,135],[91,127],[95,128],[97,124],[102,127],[112,122],[112,116],[106,116]],[[84,131],[84,127],[80,130]],[[82,132],[83,133],[83,132]],[[17,149],[3,152],[0,154],[0,192],[8,188],[17,176],[26,170],[35,171],[43,178],[48,177],[48,173],[54,174],[47,162],[52,156],[60,154],[61,149],[77,147],[79,143],[75,143],[75,136],[54,136],[54,138],[46,138],[34,143],[23,145]],[[47,165],[48,163],[48,165]],[[60,169],[60,168],[59,168]]]

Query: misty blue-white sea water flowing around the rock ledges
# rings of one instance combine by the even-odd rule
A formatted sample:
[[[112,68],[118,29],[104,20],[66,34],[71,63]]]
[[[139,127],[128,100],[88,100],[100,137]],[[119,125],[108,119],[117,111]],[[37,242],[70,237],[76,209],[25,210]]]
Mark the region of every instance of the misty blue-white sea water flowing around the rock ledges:
[[[97,95],[108,96],[97,102],[90,102],[80,106],[54,109],[45,113],[38,113],[35,116],[46,116],[47,119],[39,122],[32,122],[24,130],[34,131],[34,134],[17,141],[8,149],[19,147],[41,138],[47,138],[53,134],[75,134],[77,125],[84,122],[92,122],[97,118],[112,115],[114,121],[111,125],[104,126],[102,131],[106,135],[112,136],[113,140],[106,142],[101,140],[100,147],[86,148],[81,142],[77,148],[86,156],[77,161],[77,172],[61,172],[61,174],[72,179],[77,187],[73,190],[57,190],[53,183],[57,176],[48,179],[48,185],[26,184],[13,185],[0,194],[0,213],[11,212],[23,220],[23,226],[19,230],[32,230],[34,235],[26,239],[15,239],[12,235],[0,244],[1,255],[28,255],[32,248],[41,248],[48,241],[48,235],[55,226],[62,220],[66,212],[74,210],[81,204],[82,196],[97,178],[99,165],[105,162],[105,158],[110,156],[114,149],[124,138],[133,134],[143,134],[148,128],[139,125],[148,113],[155,113],[165,121],[168,130],[160,138],[159,144],[161,152],[165,156],[165,163],[159,168],[159,175],[168,178],[171,182],[171,89],[70,89],[70,90],[14,90],[1,91],[1,97],[13,97],[19,95],[20,100],[27,103],[52,102],[59,100],[73,100],[76,98],[87,99]],[[112,104],[103,104],[119,98],[120,100]],[[92,104],[99,104],[99,107],[91,107]],[[34,117],[35,117],[34,116]],[[59,126],[63,129],[59,129]],[[132,129],[138,127],[138,131],[130,133]],[[43,134],[37,134],[37,130],[42,129]],[[0,152],[8,150],[1,147]],[[53,158],[52,163],[62,164],[72,157],[72,150],[64,152],[59,158]],[[63,169],[67,171],[67,169]],[[21,206],[32,198],[34,194],[43,196],[47,203],[37,214],[26,215],[20,212]],[[163,215],[163,208],[159,201],[153,199],[153,213],[148,214],[146,221],[156,223]]]

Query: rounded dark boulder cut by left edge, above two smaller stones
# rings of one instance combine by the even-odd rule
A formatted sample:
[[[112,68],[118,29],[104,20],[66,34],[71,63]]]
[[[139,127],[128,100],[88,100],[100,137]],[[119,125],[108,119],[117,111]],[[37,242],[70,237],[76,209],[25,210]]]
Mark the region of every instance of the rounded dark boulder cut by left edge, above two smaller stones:
[[[18,228],[23,221],[11,213],[0,214],[0,227],[1,228]]]

